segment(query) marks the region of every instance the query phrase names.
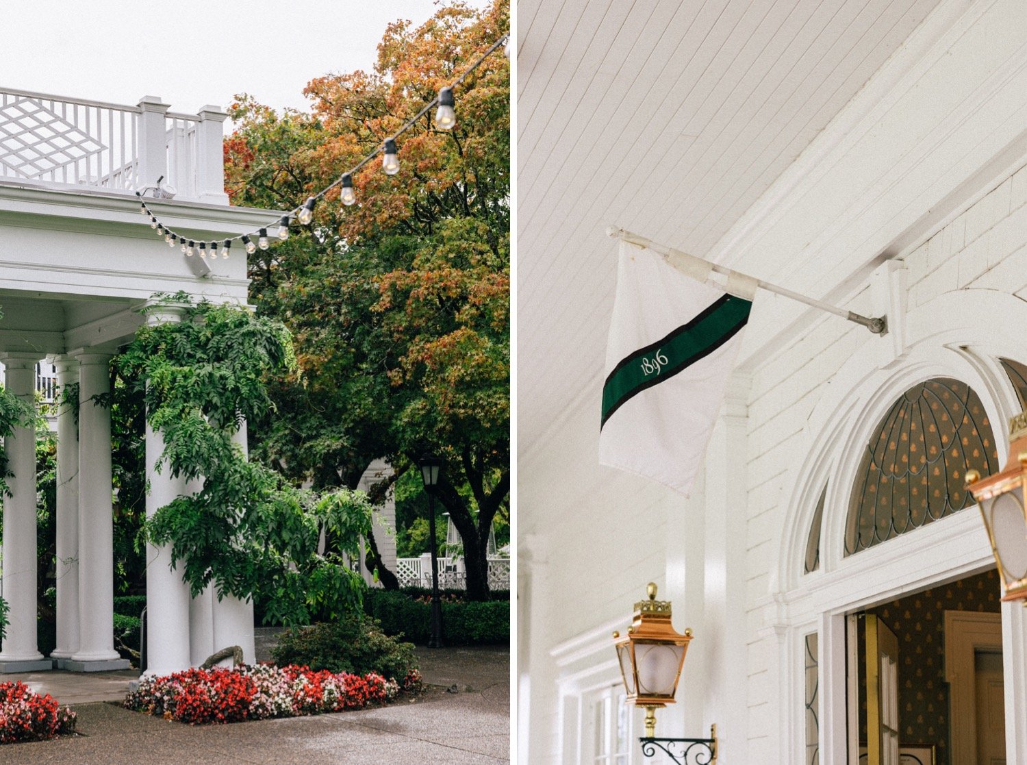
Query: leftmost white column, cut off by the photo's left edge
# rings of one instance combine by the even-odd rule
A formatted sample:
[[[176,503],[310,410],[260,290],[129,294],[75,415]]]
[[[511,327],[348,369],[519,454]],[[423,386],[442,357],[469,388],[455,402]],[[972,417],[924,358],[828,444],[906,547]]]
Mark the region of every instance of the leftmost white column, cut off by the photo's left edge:
[[[34,404],[35,367],[25,353],[3,355],[7,390]],[[49,670],[36,643],[36,432],[16,427],[6,437],[7,477],[11,496],[3,497],[3,597],[7,601],[7,637],[0,651],[0,672]]]

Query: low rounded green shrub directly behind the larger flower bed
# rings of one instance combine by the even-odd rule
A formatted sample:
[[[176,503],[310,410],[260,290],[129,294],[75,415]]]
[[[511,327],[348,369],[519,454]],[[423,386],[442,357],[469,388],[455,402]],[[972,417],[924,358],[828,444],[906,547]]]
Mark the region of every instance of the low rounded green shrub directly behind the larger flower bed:
[[[287,629],[271,655],[281,665],[356,675],[376,672],[400,683],[417,668],[413,644],[389,637],[376,619],[359,616]]]

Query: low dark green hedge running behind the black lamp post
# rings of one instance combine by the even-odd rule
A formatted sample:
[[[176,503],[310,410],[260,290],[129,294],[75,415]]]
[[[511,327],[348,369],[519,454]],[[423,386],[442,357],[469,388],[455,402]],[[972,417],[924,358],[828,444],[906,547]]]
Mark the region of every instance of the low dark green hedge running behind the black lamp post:
[[[448,592],[442,598],[443,639],[447,645],[509,643],[509,600],[461,602],[453,600],[453,595]],[[428,642],[431,606],[426,595],[372,589],[364,599],[364,608],[381,622],[387,635],[405,635],[417,644]]]

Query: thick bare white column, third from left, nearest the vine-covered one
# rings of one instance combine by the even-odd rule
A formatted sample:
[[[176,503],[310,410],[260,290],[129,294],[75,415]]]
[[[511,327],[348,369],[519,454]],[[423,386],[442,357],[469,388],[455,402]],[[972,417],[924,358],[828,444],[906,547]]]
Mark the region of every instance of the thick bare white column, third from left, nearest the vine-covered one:
[[[124,668],[114,650],[114,508],[110,353],[78,353],[78,650],[64,666],[77,672]]]

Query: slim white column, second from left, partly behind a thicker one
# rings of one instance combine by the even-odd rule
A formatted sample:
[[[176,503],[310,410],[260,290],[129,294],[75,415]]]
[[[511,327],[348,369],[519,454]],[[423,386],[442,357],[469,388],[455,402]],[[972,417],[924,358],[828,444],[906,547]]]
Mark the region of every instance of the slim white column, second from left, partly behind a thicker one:
[[[56,359],[58,389],[66,391],[78,384],[78,360]],[[77,400],[77,396],[76,396]],[[62,403],[58,409],[58,644],[50,653],[68,659],[78,650],[78,418],[75,407]]]

